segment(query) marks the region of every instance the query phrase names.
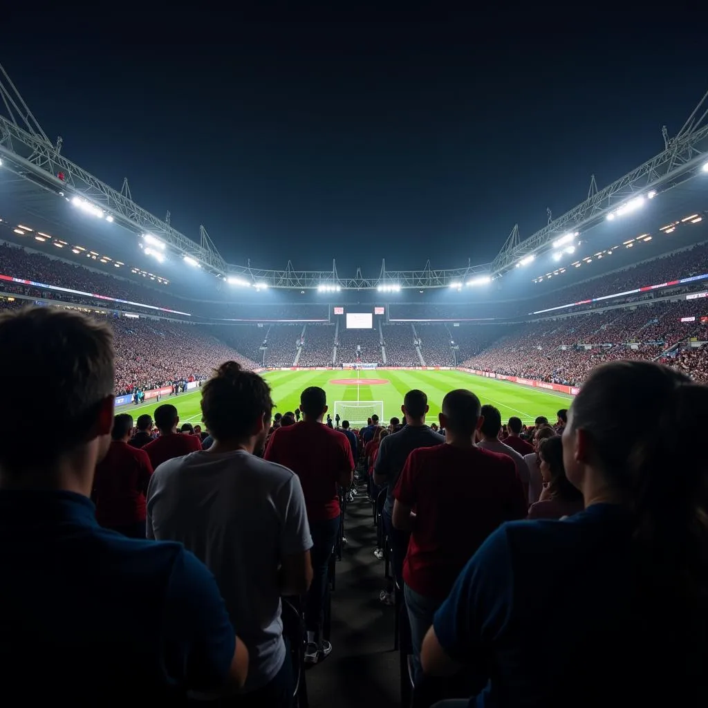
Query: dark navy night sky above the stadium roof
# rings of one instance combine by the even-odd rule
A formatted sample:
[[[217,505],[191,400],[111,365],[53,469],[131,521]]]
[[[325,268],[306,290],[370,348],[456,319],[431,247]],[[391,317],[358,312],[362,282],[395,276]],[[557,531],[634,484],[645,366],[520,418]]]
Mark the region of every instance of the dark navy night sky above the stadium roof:
[[[11,16],[0,62],[69,159],[228,261],[376,274],[489,261],[591,173],[661,152],[708,89],[704,20],[664,14],[93,27],[67,7],[37,33]]]

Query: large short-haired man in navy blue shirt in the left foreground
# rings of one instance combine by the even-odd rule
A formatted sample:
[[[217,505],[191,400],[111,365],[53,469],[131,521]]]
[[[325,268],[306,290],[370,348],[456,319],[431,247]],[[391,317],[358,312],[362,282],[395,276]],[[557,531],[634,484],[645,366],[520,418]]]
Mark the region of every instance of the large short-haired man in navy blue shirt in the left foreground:
[[[0,316],[0,341],[23,421],[0,446],[4,693],[83,706],[241,687],[248,652],[205,566],[181,544],[96,523],[93,472],[113,424],[108,326],[23,309]]]

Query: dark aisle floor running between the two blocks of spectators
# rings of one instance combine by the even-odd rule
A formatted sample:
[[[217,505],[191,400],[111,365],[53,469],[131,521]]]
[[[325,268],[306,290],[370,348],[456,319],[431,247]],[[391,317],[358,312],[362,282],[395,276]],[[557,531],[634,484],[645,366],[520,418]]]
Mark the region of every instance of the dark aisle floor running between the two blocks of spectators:
[[[342,560],[332,593],[332,653],[307,671],[310,708],[394,708],[399,705],[394,608],[379,602],[384,563],[373,554],[371,505],[359,496],[347,508]]]

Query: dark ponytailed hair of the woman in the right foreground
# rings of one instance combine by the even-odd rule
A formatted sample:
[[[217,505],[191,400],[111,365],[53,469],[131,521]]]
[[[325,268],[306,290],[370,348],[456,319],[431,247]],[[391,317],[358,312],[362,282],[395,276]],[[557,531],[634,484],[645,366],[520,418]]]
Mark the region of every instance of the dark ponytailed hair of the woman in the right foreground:
[[[708,469],[686,437],[708,428],[708,387],[650,362],[608,363],[586,379],[570,425],[632,510],[639,581],[705,603]]]

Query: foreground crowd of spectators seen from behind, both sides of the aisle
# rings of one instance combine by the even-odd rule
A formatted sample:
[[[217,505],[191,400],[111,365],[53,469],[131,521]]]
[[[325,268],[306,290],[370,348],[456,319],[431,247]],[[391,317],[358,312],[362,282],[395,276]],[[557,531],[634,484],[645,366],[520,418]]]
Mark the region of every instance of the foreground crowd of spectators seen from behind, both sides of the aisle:
[[[276,421],[265,380],[227,361],[202,387],[204,431],[171,404],[136,429],[114,415],[105,323],[25,309],[0,316],[0,341],[18,421],[39,399],[54,415],[41,445],[21,425],[0,448],[6,695],[290,708],[290,642],[304,663],[336,650],[341,499],[367,481],[414,705],[704,703],[706,469],[685,440],[708,425],[708,388],[676,370],[598,367],[570,411],[526,428],[467,389],[433,428],[412,390],[400,420],[353,431],[324,424],[317,387]]]

